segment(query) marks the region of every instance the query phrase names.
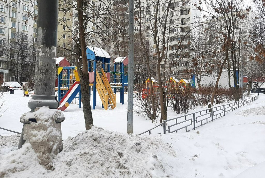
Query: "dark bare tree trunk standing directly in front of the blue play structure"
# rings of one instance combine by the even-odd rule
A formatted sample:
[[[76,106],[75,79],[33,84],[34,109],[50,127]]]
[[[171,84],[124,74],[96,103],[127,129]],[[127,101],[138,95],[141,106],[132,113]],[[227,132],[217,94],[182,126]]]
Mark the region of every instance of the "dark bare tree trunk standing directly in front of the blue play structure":
[[[77,2],[77,13],[79,21],[79,42],[81,46],[81,56],[82,56],[82,68],[80,63],[77,63],[78,70],[80,70],[80,87],[83,102],[83,112],[86,123],[86,130],[89,130],[93,126],[93,117],[90,106],[90,87],[89,87],[89,74],[88,65],[86,58],[86,42],[85,42],[85,30],[83,21],[83,9],[84,3],[81,0],[76,0]]]

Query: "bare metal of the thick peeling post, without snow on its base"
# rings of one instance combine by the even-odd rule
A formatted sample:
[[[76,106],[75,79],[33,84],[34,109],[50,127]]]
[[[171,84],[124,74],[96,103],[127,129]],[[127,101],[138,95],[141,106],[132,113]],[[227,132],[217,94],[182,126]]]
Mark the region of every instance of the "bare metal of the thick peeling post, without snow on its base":
[[[55,76],[56,76],[56,46],[57,46],[57,23],[58,23],[58,0],[39,0],[38,1],[38,32],[37,32],[37,56],[36,56],[36,74],[35,74],[35,94],[29,100],[28,107],[30,112],[34,112],[35,108],[48,106],[50,109],[56,109],[59,102],[55,96]],[[51,111],[53,112],[53,111]],[[55,122],[55,129],[61,135],[61,122],[64,116],[57,117],[58,110],[54,110],[55,115],[49,115]],[[34,115],[34,114],[32,114]],[[20,122],[23,123],[23,129],[20,137],[18,149],[25,142],[24,134],[30,129],[31,122],[37,122],[37,115],[28,119],[24,115],[21,116]],[[62,141],[59,139],[62,149]],[[32,145],[33,146],[33,145]],[[45,145],[44,145],[45,146]],[[33,146],[34,147],[34,146]]]

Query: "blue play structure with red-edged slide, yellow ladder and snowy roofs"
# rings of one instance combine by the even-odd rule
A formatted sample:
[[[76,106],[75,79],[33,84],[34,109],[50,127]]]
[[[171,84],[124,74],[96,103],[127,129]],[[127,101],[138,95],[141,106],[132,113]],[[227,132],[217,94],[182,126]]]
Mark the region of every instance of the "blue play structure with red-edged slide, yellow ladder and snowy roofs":
[[[95,109],[97,92],[102,102],[102,108],[116,108],[116,92],[120,90],[120,103],[124,104],[124,87],[128,86],[128,77],[124,72],[128,57],[114,61],[114,71],[110,71],[110,56],[101,48],[87,46],[89,71],[89,90],[93,94],[92,109]],[[101,70],[97,70],[97,67]],[[105,70],[107,67],[107,70]],[[119,72],[117,72],[119,70]],[[114,89],[114,92],[112,91]],[[75,66],[58,67],[58,109],[65,110],[70,103],[81,108],[80,79]]]

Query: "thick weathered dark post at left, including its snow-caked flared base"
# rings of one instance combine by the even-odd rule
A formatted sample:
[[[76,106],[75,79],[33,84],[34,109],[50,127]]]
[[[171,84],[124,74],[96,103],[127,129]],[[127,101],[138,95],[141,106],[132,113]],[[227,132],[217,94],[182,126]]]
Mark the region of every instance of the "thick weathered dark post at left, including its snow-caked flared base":
[[[42,152],[40,155],[49,155],[51,152],[57,154],[63,149],[61,122],[64,121],[64,115],[56,109],[59,106],[59,102],[56,99],[57,96],[55,96],[57,24],[58,0],[39,0],[35,94],[32,95],[28,103],[31,113],[25,113],[20,118],[20,122],[23,123],[23,129],[18,149],[25,143],[24,135],[27,135],[26,139],[32,144],[34,151]],[[37,112],[36,108],[42,106],[48,106],[48,108],[43,108],[49,111],[43,113],[42,118],[48,118],[48,121],[52,123],[49,126],[47,126],[48,124],[41,125],[43,122],[39,121],[42,118],[36,113],[33,114]],[[46,126],[53,128],[46,128]],[[45,129],[52,130],[54,135],[49,134]],[[41,131],[47,133],[45,136],[47,136],[49,141],[46,140],[44,143],[41,143],[40,140],[36,142],[36,139],[32,139],[32,137],[37,136]],[[34,134],[31,136],[29,133]],[[39,157],[39,159],[42,159],[42,157]],[[43,160],[47,160],[47,157],[43,158]],[[51,169],[51,166],[47,167],[47,169]]]

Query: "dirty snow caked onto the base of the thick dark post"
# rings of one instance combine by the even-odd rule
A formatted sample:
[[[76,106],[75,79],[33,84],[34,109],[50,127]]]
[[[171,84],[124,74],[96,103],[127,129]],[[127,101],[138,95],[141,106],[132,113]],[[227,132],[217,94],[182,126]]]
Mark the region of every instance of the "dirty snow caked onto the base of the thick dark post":
[[[36,119],[36,123],[25,124],[23,139],[33,146],[39,163],[52,170],[52,159],[62,149],[61,127],[55,122],[64,118],[64,115],[57,109],[44,106],[36,108],[32,113],[24,113],[20,121],[28,123],[29,119],[33,118]]]

